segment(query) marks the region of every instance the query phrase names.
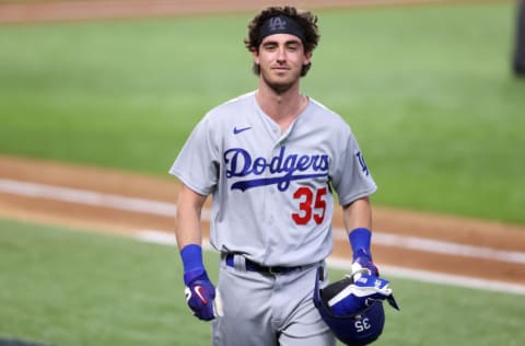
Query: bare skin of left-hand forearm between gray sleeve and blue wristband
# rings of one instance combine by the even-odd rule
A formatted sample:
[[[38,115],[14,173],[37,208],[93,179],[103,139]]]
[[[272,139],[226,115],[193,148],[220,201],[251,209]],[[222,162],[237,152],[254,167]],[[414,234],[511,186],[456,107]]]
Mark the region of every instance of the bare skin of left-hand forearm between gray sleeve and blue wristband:
[[[200,196],[187,187],[180,191],[175,219],[175,237],[179,250],[188,244],[201,245],[200,215],[205,200],[206,196]]]

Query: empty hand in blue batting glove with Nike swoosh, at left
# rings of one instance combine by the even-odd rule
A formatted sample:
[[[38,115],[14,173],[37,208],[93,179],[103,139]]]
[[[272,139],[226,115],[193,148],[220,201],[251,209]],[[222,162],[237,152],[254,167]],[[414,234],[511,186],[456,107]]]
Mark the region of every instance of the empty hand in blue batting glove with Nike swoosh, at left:
[[[215,288],[206,270],[191,270],[184,274],[186,302],[194,314],[203,321],[211,321],[220,315],[215,305]]]

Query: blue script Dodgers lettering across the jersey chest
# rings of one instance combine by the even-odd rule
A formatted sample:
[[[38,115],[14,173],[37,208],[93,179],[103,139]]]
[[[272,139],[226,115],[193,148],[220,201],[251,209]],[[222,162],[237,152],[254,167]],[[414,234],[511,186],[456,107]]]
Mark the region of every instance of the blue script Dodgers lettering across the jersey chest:
[[[232,148],[224,152],[226,177],[248,177],[232,184],[231,189],[242,192],[258,186],[277,185],[279,191],[287,191],[293,181],[328,176],[327,154],[287,154],[287,147],[281,147],[279,154],[271,158],[252,158],[242,148]],[[257,177],[265,175],[266,177]]]

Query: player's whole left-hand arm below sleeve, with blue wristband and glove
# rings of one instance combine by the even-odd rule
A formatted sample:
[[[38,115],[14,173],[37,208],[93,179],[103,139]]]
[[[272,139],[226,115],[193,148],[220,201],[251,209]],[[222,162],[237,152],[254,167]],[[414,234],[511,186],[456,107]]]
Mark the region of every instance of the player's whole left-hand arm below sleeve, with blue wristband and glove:
[[[175,235],[184,266],[186,302],[197,318],[209,321],[219,313],[214,304],[215,288],[202,262],[200,216],[206,197],[183,186],[177,200]]]

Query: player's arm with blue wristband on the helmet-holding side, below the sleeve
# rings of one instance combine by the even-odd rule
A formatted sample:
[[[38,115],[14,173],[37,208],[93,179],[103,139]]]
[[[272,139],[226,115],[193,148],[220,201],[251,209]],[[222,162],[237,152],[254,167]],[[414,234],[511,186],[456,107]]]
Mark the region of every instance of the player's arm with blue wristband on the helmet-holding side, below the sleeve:
[[[372,262],[370,251],[372,241],[372,207],[369,197],[359,198],[342,208],[345,229],[352,246],[353,263],[368,268],[373,275],[378,275],[377,267]]]

